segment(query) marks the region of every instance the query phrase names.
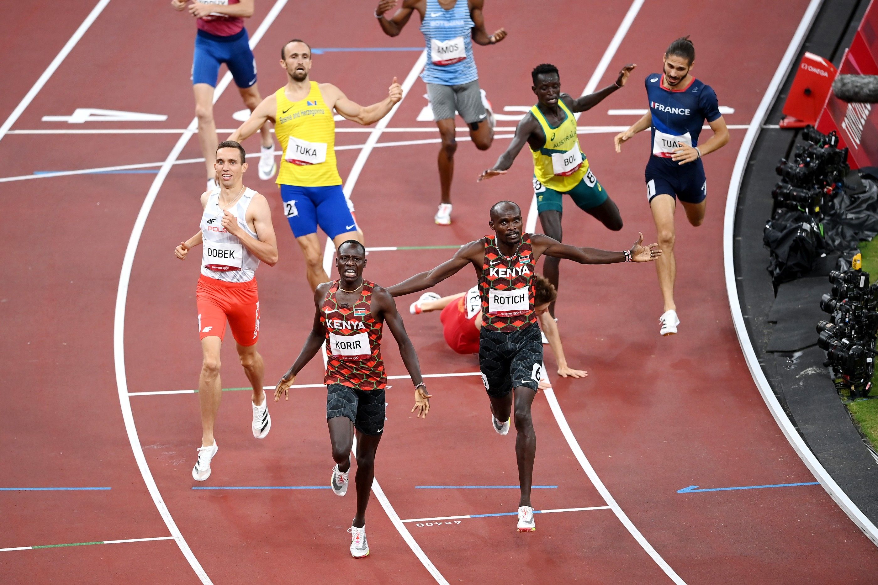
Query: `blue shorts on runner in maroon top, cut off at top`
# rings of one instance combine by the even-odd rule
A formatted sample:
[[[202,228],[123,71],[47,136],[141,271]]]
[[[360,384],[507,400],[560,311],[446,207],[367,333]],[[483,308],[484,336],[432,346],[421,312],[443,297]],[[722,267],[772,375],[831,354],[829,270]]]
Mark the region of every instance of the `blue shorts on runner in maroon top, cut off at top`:
[[[250,50],[246,28],[229,37],[198,31],[192,57],[192,84],[207,83],[216,87],[219,66],[223,63],[238,87],[250,87],[256,83],[256,58]]]

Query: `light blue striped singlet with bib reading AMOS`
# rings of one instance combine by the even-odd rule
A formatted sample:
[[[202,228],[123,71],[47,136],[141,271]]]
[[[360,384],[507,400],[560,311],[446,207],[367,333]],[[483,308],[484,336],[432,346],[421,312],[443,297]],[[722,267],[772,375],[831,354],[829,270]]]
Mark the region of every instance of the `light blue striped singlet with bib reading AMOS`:
[[[421,32],[427,42],[427,65],[421,73],[424,83],[462,85],[479,79],[472,59],[470,3],[457,0],[446,11],[438,0],[427,0]]]

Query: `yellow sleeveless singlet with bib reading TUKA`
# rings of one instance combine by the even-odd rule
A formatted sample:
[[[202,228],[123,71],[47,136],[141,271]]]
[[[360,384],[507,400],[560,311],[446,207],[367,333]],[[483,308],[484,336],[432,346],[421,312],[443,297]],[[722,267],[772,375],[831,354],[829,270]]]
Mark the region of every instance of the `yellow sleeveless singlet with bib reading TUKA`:
[[[335,166],[335,120],[317,82],[311,82],[308,95],[298,102],[287,99],[284,88],[277,90],[275,97],[275,134],[284,152],[277,184],[299,187],[342,184]]]

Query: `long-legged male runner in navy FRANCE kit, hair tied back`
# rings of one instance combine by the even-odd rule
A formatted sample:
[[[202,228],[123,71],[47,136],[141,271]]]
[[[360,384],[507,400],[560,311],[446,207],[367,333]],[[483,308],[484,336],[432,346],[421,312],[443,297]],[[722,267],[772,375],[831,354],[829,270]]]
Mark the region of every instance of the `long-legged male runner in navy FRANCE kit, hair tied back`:
[[[652,128],[650,161],[646,163],[646,197],[652,210],[662,256],[656,262],[659,286],[665,300],[659,317],[663,336],[677,332],[680,319],[673,302],[673,283],[677,265],[673,257],[673,213],[680,199],[693,226],[702,225],[708,193],[702,156],[729,141],[729,130],[719,112],[716,92],[692,76],[695,49],[688,37],[674,40],[665,53],[664,74],[646,77],[646,96],[650,110],[628,130],[615,137],[615,151],[622,143],[646,128]],[[699,144],[704,121],[714,135]]]

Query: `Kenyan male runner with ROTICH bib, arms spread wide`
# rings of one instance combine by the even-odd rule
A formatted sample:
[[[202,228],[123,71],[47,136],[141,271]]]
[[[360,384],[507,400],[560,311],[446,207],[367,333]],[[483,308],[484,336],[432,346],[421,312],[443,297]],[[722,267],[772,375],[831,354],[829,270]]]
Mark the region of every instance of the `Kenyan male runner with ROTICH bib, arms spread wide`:
[[[641,246],[640,235],[631,249],[608,252],[576,248],[542,234],[522,234],[522,210],[512,201],[500,201],[491,208],[489,224],[494,235],[470,242],[447,262],[421,272],[387,289],[394,297],[417,293],[435,286],[471,264],[479,278],[482,328],[479,331],[479,368],[491,401],[493,428],[500,435],[509,431],[515,401],[515,454],[522,495],[518,503],[518,531],[536,530],[530,506],[530,484],[534,471],[536,434],[530,418],[530,404],[536,396],[543,369],[543,343],[535,326],[534,293],[531,281],[536,261],[543,254],[567,258],[579,264],[649,262],[661,255],[657,244]]]

